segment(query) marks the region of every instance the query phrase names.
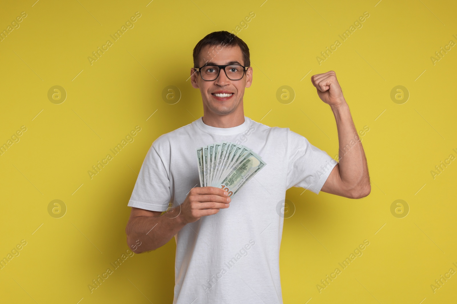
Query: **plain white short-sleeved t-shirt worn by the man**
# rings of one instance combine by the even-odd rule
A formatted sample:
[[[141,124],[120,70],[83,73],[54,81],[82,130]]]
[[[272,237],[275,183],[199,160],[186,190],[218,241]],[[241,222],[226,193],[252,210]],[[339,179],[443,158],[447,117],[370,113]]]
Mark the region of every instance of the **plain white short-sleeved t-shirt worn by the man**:
[[[181,204],[200,185],[196,148],[224,141],[252,149],[266,166],[237,192],[230,207],[175,235],[173,304],[282,303],[284,217],[278,210],[292,186],[319,194],[337,164],[302,135],[248,117],[232,128],[208,126],[200,117],[153,142],[128,206],[165,211],[169,202]]]

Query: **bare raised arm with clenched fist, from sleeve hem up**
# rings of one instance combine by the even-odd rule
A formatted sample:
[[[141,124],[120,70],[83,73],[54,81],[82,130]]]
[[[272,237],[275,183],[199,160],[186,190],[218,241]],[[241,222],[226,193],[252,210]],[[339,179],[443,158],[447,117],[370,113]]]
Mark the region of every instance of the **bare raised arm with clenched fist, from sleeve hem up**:
[[[365,197],[371,191],[367,158],[336,74],[329,71],[313,75],[311,82],[319,98],[330,105],[335,115],[340,146],[339,164],[335,165],[321,191],[348,198]]]

